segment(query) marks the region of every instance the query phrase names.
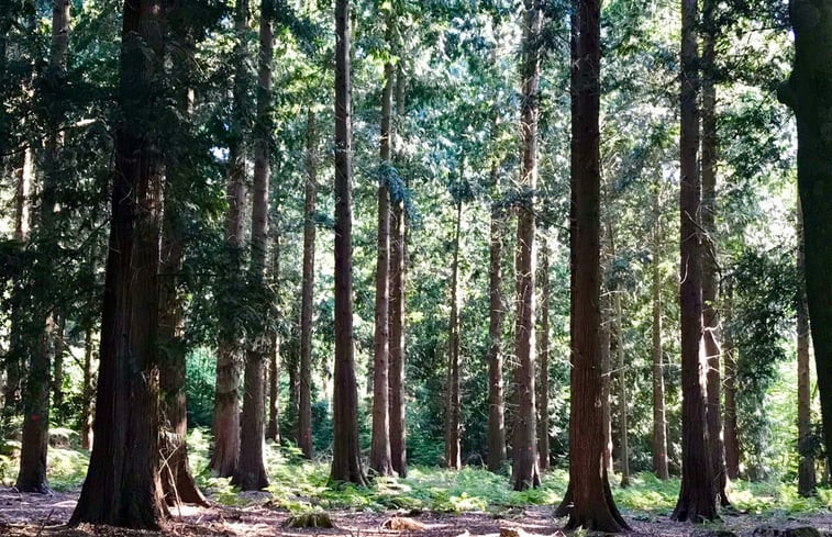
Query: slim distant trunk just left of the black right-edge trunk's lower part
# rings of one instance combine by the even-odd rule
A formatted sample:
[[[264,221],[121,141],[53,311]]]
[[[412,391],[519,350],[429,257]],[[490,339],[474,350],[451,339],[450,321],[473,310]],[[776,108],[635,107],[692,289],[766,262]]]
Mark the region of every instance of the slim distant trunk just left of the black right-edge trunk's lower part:
[[[812,392],[811,371],[809,367],[809,313],[806,302],[806,250],[803,246],[803,216],[800,202],[797,208],[797,277],[799,283],[797,299],[797,429],[798,429],[798,465],[797,490],[801,496],[817,494],[817,478],[814,474],[814,455],[811,451],[812,435]]]

